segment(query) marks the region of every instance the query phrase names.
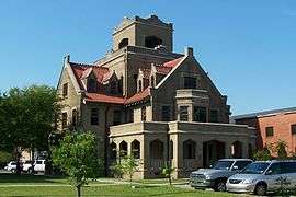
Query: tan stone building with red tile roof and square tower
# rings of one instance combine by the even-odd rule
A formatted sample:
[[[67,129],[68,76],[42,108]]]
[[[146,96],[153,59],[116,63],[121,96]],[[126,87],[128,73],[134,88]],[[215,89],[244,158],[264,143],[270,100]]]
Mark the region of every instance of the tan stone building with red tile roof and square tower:
[[[158,16],[124,18],[113,48],[91,65],[67,56],[58,82],[60,128],[91,130],[105,169],[133,154],[139,178],[164,162],[184,177],[219,158],[248,158],[254,129],[229,124],[230,106],[195,59],[173,53],[173,25]]]

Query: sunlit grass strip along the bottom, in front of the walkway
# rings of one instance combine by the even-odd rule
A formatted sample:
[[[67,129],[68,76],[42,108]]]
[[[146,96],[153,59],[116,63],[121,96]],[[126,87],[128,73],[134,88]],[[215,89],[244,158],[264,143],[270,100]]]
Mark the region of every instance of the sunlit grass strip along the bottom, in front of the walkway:
[[[75,196],[76,190],[72,187],[0,187],[0,196]],[[183,189],[170,186],[139,186],[130,188],[128,185],[113,186],[88,186],[82,188],[82,196],[203,196],[203,197],[226,197],[227,193],[213,193],[203,190]]]

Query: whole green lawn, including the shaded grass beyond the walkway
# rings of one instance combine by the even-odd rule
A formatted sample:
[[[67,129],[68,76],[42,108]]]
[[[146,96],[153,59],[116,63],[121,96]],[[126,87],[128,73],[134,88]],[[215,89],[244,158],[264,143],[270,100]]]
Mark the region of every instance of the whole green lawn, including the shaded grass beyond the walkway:
[[[91,182],[89,186],[82,188],[82,196],[201,196],[201,197],[227,197],[227,193],[214,193],[204,190],[194,190],[187,188],[179,188],[168,185],[148,185],[148,184],[166,184],[167,179],[145,179],[137,182],[136,188],[132,188],[128,184],[111,184],[110,182]],[[112,179],[110,179],[112,181]],[[177,181],[184,182],[184,179]],[[107,185],[106,185],[107,184]],[[0,174],[0,196],[16,197],[54,197],[54,196],[76,196],[76,189],[69,186],[67,178],[55,176],[34,176],[34,175],[14,175]]]

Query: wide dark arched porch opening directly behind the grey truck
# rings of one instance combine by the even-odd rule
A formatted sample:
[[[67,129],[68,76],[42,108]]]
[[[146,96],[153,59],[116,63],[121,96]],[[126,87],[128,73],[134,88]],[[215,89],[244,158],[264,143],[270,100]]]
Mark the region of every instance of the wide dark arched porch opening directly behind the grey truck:
[[[225,143],[218,140],[203,142],[203,165],[208,167],[215,161],[225,158]]]

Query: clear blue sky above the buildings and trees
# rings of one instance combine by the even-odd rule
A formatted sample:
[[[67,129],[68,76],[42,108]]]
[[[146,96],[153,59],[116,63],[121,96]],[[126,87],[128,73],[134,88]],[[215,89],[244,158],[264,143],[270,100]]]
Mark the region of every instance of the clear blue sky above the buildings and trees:
[[[62,57],[92,62],[123,16],[174,23],[237,114],[296,106],[295,0],[18,0],[0,2],[0,91],[56,85]]]

